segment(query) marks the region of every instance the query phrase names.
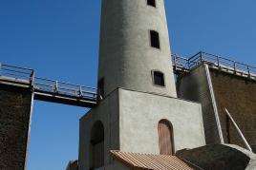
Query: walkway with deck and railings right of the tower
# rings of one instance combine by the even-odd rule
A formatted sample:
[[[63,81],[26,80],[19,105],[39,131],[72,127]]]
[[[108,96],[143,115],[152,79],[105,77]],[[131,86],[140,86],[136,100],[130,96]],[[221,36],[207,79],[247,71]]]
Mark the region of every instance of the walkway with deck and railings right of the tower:
[[[174,72],[176,74],[184,74],[190,70],[207,64],[211,68],[242,76],[251,80],[256,80],[256,67],[248,66],[240,62],[226,59],[221,56],[199,52],[190,58],[184,58],[179,55],[172,55]]]

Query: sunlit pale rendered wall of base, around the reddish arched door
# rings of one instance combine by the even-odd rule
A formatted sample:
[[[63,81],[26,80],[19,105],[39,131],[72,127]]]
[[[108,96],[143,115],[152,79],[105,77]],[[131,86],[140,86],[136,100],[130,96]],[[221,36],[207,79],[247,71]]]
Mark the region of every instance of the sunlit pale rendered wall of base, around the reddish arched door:
[[[120,150],[160,154],[158,124],[173,125],[175,151],[205,144],[201,104],[119,89]]]

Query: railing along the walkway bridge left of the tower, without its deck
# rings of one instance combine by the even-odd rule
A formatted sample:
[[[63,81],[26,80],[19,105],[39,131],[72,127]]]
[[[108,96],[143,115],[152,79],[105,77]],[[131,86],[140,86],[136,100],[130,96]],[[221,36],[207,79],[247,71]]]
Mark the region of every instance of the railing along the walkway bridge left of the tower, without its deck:
[[[65,95],[70,98],[89,101],[97,100],[97,89],[91,86],[75,85],[66,82],[35,77],[31,68],[11,66],[0,63],[0,81],[21,85],[31,85],[35,92]]]

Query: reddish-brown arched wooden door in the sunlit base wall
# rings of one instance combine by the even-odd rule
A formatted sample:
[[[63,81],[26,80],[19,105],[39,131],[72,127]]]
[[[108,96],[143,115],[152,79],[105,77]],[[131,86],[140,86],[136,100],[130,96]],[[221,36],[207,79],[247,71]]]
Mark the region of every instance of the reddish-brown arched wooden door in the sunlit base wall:
[[[167,120],[159,123],[160,155],[174,155],[173,128]]]

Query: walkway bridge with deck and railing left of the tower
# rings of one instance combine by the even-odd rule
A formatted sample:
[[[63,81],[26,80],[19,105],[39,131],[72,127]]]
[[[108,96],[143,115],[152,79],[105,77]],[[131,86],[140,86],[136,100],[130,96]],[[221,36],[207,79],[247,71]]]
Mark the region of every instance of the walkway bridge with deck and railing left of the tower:
[[[35,77],[31,68],[0,64],[0,84],[31,88],[35,100],[86,107],[97,104],[96,88]]]

